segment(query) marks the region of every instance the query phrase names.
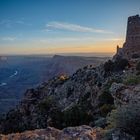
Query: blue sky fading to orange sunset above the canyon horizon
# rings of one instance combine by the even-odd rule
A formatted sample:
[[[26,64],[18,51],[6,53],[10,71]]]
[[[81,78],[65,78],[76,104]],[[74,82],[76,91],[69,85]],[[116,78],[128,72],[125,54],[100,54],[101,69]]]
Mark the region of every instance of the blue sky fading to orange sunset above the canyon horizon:
[[[140,0],[0,0],[0,55],[115,52]]]

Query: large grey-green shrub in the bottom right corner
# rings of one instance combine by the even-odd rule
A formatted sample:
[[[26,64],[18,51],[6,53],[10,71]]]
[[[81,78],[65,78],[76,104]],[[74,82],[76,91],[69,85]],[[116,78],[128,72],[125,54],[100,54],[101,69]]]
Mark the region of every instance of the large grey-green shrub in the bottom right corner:
[[[108,117],[111,127],[118,128],[138,140],[140,138],[140,103],[122,106]]]

